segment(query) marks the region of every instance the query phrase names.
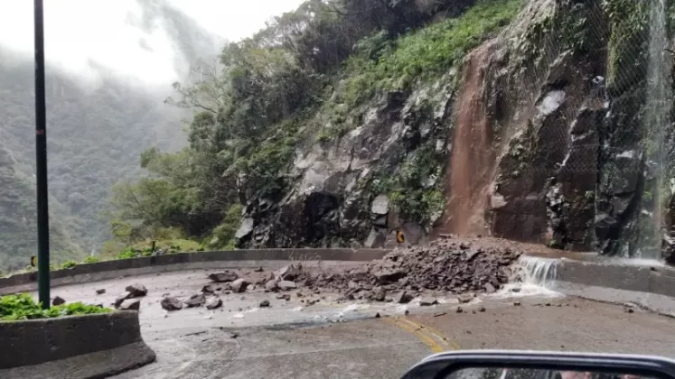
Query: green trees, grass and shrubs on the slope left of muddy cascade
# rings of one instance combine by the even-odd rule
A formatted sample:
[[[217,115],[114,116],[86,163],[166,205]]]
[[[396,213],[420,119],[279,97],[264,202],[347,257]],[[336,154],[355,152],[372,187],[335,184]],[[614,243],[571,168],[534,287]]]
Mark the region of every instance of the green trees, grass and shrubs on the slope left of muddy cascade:
[[[148,149],[140,163],[151,176],[113,189],[115,241],[106,254],[147,254],[135,244],[161,239],[167,228],[211,248],[232,247],[243,205],[286,195],[288,168],[303,143],[339,139],[361,124],[375,97],[459,69],[466,53],[510,23],[522,5],[308,0],[226,45],[208,75],[174,85],[180,98],[171,103],[194,111],[189,146],[179,153]],[[433,114],[427,108],[423,113]],[[435,145],[447,131],[438,129],[401,156],[400,168],[382,168],[388,175],[380,184],[377,178],[369,184],[420,222],[445,204],[438,178],[446,153]]]

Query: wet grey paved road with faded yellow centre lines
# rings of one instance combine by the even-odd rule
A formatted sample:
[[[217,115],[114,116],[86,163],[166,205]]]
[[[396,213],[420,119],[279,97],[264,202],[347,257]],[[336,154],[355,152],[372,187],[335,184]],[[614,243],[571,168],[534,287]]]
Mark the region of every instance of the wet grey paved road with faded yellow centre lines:
[[[147,287],[141,327],[157,362],[118,378],[396,378],[424,356],[473,348],[675,357],[675,319],[536,289],[474,299],[461,306],[461,313],[454,299],[441,299],[433,307],[341,304],[334,301],[336,294],[307,291],[302,298],[294,292],[289,301],[272,293],[231,294],[215,312],[167,313],[160,308],[164,293],[199,291],[208,282],[206,273],[93,282],[59,287],[53,294],[108,304],[129,283]],[[96,295],[97,289],[107,293]],[[311,297],[321,301],[305,306]],[[269,300],[271,307],[258,308],[261,300]]]

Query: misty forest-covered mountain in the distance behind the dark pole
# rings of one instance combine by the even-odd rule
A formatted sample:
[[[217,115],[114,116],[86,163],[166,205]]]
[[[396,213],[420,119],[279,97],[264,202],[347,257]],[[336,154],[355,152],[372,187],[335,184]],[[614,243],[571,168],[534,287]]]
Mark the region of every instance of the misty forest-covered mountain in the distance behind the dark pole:
[[[173,67],[187,78],[190,65],[208,60],[223,43],[166,1],[139,1],[142,16],[129,20],[141,30],[164,28],[176,52]],[[61,69],[48,57],[46,69],[52,263],[79,260],[99,251],[110,232],[110,195],[120,180],[147,172],[140,154],[150,146],[178,151],[186,144],[189,113],[165,104],[172,94],[143,79],[94,67],[95,81]],[[25,266],[35,254],[34,69],[31,57],[0,46],[0,270]]]

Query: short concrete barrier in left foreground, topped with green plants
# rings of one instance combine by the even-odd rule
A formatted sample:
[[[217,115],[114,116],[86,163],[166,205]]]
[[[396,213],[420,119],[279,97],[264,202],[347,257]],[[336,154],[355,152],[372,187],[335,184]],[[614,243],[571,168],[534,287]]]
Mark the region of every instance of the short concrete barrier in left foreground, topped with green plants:
[[[155,361],[138,312],[0,322],[0,377],[105,377]]]

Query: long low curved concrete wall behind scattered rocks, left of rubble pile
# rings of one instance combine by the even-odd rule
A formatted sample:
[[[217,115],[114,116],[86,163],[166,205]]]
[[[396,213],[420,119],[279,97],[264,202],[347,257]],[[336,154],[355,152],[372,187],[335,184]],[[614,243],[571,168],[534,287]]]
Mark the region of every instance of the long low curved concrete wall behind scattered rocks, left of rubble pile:
[[[385,249],[251,249],[176,253],[98,263],[82,263],[70,269],[50,273],[52,287],[115,279],[120,276],[192,269],[219,269],[240,263],[260,265],[260,261],[346,261],[367,262],[380,259]],[[18,273],[0,278],[0,295],[37,288],[37,273]]]

